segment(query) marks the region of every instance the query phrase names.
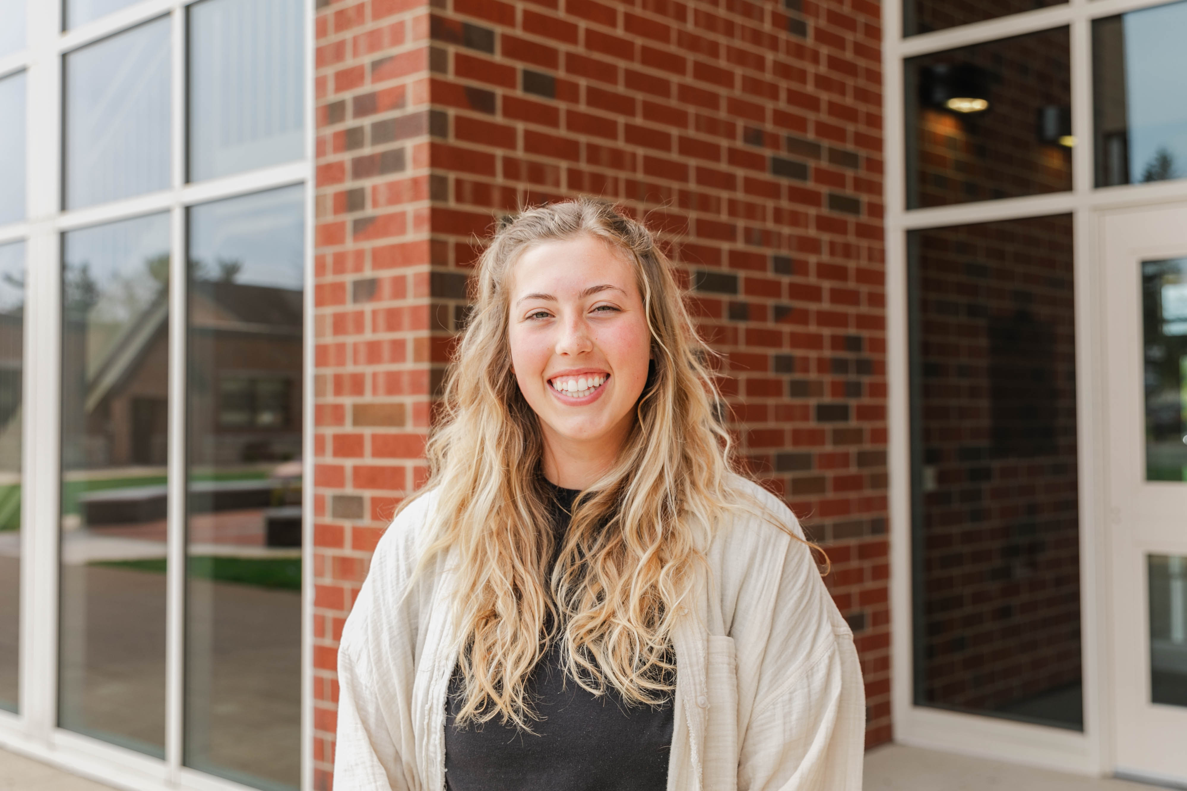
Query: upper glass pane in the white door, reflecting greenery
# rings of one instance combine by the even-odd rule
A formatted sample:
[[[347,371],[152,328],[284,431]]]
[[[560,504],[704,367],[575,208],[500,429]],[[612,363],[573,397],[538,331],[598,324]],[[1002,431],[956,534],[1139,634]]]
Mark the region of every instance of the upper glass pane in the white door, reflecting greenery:
[[[1145,479],[1187,481],[1187,259],[1142,262]]]

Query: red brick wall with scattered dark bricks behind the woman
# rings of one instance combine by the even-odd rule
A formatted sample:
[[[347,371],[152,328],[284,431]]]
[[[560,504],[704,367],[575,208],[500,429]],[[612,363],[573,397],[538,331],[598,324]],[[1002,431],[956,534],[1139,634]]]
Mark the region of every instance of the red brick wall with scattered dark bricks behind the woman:
[[[318,787],[336,638],[423,476],[476,242],[579,192],[646,216],[687,273],[745,458],[829,547],[889,739],[877,4],[343,0],[317,39]]]

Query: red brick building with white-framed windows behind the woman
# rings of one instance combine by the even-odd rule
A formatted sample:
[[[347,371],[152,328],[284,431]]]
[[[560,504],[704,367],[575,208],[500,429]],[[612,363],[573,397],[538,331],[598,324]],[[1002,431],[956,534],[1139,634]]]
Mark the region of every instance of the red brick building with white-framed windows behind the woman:
[[[592,193],[661,231],[827,548],[868,745],[1187,783],[1185,36],[1160,0],[0,0],[0,746],[331,789],[481,240]]]

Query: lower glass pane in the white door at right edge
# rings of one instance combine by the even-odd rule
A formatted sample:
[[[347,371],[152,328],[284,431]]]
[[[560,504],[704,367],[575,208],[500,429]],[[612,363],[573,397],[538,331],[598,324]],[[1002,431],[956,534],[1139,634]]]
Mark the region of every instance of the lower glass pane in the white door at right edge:
[[[1147,556],[1150,702],[1187,706],[1187,557]]]

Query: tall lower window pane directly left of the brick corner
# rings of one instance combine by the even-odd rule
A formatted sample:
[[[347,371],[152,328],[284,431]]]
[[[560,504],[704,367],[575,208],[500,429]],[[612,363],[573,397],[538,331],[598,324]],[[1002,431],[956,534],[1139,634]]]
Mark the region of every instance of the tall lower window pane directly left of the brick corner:
[[[304,190],[190,210],[185,764],[300,768]]]

